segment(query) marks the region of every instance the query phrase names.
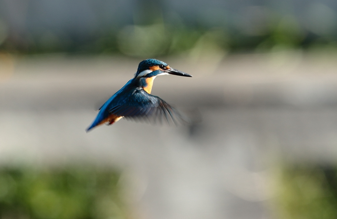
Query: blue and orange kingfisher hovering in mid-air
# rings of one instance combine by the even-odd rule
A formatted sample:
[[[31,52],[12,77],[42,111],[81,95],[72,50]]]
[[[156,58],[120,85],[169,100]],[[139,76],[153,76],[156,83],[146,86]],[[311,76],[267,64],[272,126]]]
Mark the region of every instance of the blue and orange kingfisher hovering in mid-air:
[[[86,131],[103,123],[111,125],[123,117],[136,120],[159,120],[159,122],[163,119],[168,123],[186,121],[178,110],[161,98],[151,95],[153,80],[159,75],[168,74],[192,77],[157,59],[146,59],[140,62],[134,77],[99,108],[95,120]]]

